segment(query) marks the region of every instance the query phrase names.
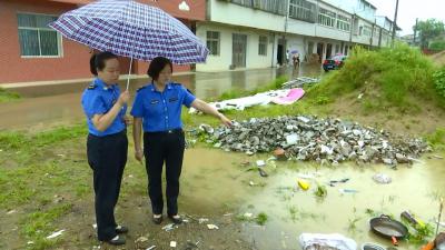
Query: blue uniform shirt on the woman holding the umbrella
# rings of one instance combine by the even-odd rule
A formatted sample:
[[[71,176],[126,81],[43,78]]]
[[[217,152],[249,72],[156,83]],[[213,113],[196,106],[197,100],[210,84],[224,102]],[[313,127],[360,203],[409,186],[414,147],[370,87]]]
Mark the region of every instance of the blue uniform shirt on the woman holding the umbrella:
[[[103,131],[97,130],[91,121],[95,114],[107,113],[117,102],[120,96],[120,89],[117,84],[107,86],[102,80],[96,78],[82,93],[83,112],[87,116],[88,131],[97,137],[113,134],[126,129],[125,114],[127,104],[122,107],[119,114],[111,124]]]

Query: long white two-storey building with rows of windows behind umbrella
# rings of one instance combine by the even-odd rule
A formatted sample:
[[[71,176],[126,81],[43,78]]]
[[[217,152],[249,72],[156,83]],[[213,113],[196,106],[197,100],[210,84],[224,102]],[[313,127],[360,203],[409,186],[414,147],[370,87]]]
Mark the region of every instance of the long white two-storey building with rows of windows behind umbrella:
[[[375,13],[366,0],[208,0],[196,33],[210,54],[196,70],[275,67],[293,53],[322,62],[353,44],[388,46],[389,19]]]

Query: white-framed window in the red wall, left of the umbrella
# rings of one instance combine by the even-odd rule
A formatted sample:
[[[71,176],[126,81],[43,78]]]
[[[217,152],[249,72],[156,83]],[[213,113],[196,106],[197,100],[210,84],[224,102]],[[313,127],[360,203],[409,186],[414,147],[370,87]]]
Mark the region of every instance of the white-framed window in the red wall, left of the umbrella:
[[[57,20],[48,14],[17,14],[22,57],[61,57],[61,37],[48,27]]]

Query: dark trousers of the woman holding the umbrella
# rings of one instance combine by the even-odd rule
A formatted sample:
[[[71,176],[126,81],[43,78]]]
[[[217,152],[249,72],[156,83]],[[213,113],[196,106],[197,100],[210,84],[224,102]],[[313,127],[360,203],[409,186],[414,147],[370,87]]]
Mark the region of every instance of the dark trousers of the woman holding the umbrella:
[[[88,136],[88,163],[93,171],[98,239],[116,236],[115,206],[118,202],[123,168],[127,162],[127,131],[105,137]]]

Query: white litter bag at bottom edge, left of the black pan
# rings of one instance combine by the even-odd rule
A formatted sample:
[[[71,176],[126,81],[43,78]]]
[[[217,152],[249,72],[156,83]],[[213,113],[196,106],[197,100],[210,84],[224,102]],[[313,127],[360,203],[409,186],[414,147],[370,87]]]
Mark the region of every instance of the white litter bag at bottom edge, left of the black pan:
[[[339,233],[301,233],[299,236],[299,243],[303,249],[322,249],[328,247],[337,250],[357,249],[357,243],[353,239],[346,238]]]

